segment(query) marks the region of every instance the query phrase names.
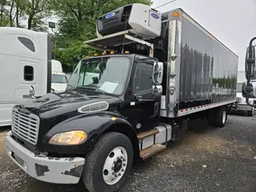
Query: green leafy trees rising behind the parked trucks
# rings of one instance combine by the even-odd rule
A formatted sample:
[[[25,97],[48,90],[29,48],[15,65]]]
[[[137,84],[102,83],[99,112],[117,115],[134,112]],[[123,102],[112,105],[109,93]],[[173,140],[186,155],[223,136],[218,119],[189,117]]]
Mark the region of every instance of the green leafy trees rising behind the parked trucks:
[[[64,68],[71,68],[81,58],[94,54],[83,42],[96,38],[97,18],[134,2],[152,4],[151,0],[0,0],[0,26],[49,33],[53,58]],[[51,20],[58,26],[53,32],[48,26]]]

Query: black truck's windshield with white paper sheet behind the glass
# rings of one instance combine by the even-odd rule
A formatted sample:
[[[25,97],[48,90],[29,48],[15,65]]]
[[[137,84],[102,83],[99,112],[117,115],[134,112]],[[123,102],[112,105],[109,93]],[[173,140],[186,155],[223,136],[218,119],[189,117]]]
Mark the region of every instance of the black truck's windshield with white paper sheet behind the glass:
[[[126,57],[88,58],[78,63],[68,87],[122,94],[129,69]]]

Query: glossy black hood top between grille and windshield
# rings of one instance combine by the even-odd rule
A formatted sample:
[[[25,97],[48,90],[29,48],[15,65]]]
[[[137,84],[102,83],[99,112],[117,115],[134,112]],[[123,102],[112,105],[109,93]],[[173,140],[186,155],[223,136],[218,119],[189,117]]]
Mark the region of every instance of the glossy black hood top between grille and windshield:
[[[118,97],[94,91],[66,90],[45,94],[37,99],[26,100],[19,107],[30,110],[40,118],[56,118],[60,115],[63,118],[71,118],[80,114],[78,113],[79,107],[103,101],[109,103],[109,108],[118,102],[122,102]]]

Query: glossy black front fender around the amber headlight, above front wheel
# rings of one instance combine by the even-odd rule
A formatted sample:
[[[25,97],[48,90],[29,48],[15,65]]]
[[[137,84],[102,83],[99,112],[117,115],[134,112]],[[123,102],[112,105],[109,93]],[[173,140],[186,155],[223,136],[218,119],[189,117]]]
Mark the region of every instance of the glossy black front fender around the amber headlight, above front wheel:
[[[124,133],[124,131],[127,131],[130,134],[128,137],[137,138],[133,126],[131,126],[121,114],[112,111],[101,111],[91,114],[81,114],[58,123],[58,125],[54,126],[44,136],[42,146],[39,150],[53,154],[86,154],[102,134],[113,130],[113,128],[115,128],[114,131],[117,131],[117,127],[126,128],[122,130],[120,129],[118,132]],[[50,138],[52,138],[54,134],[70,130],[84,130],[86,131],[88,138],[85,142],[76,146],[49,144]]]

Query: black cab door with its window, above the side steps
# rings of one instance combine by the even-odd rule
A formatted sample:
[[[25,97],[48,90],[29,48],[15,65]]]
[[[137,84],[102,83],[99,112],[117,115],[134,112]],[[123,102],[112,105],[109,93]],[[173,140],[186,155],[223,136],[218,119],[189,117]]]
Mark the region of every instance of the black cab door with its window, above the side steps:
[[[153,70],[153,62],[139,61],[132,81],[134,96],[128,119],[138,131],[153,129],[159,123],[161,95],[153,93]]]

